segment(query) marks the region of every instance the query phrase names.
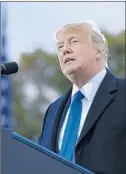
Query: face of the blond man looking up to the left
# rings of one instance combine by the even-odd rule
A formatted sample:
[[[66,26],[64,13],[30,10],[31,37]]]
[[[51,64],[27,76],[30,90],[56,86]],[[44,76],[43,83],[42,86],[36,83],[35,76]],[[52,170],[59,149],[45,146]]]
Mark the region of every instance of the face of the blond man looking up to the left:
[[[67,76],[92,70],[96,63],[96,49],[88,38],[88,32],[65,29],[58,35],[58,58],[62,72]]]

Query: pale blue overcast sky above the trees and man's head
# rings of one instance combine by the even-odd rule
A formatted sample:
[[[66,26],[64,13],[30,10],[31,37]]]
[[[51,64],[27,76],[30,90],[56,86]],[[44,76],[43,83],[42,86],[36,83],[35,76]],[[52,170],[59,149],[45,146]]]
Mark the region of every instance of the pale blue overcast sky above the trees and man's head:
[[[8,2],[8,57],[42,48],[55,52],[55,31],[69,22],[94,20],[117,34],[125,29],[125,2]]]

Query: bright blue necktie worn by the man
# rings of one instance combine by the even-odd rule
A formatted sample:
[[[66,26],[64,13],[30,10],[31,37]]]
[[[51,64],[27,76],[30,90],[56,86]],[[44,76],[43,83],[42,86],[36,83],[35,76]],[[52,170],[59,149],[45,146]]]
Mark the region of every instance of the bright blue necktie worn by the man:
[[[73,101],[71,103],[70,113],[62,141],[61,151],[59,153],[67,160],[73,159],[82,112],[81,99],[83,97],[84,95],[80,91],[78,91],[74,95]]]

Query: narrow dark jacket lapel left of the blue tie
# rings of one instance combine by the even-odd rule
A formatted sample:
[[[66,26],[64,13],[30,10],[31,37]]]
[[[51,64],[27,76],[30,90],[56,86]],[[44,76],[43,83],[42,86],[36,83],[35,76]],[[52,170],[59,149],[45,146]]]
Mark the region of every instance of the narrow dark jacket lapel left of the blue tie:
[[[51,150],[54,152],[56,152],[58,150],[57,149],[58,129],[60,128],[59,125],[61,126],[60,120],[61,120],[63,114],[66,115],[66,113],[67,113],[67,110],[68,110],[68,107],[70,104],[71,91],[72,91],[72,88],[70,88],[68,90],[68,92],[63,96],[63,99],[61,101],[61,104],[60,104],[57,112],[56,112],[56,116],[54,119],[54,124],[53,124],[53,129],[52,129],[52,137],[51,137],[51,147],[52,147]],[[69,102],[67,102],[68,99],[69,99]],[[67,103],[67,105],[66,105],[66,103]]]

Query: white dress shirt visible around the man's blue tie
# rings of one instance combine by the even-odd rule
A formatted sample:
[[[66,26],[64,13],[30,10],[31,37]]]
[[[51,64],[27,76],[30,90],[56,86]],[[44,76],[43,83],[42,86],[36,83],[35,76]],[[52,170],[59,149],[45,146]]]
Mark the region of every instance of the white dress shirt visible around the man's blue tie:
[[[82,86],[80,89],[78,87],[76,87],[75,85],[73,85],[72,100],[73,100],[73,95],[78,90],[80,90],[82,92],[82,94],[84,95],[84,98],[82,99],[82,113],[81,113],[81,120],[80,120],[80,125],[79,125],[79,130],[78,130],[78,138],[79,138],[80,133],[82,131],[82,127],[84,125],[86,116],[87,116],[88,111],[91,107],[91,104],[93,102],[95,94],[96,94],[103,78],[105,77],[105,75],[106,75],[106,69],[104,68],[102,71],[100,71],[98,74],[96,74],[87,84]],[[71,102],[72,102],[72,100],[71,100]],[[67,124],[69,112],[70,112],[70,107],[67,111],[64,123],[62,125],[61,131],[59,134],[59,141],[58,141],[59,150],[61,149],[62,140],[63,140],[64,131],[65,131],[65,127]]]

